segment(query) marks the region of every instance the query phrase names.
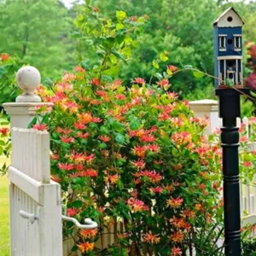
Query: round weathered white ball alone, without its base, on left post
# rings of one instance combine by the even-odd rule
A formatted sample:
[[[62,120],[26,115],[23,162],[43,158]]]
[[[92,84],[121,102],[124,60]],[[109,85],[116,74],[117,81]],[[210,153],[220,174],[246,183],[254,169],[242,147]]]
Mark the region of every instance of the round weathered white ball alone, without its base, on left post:
[[[21,90],[32,94],[41,81],[41,75],[36,67],[21,67],[16,73],[16,81]]]

